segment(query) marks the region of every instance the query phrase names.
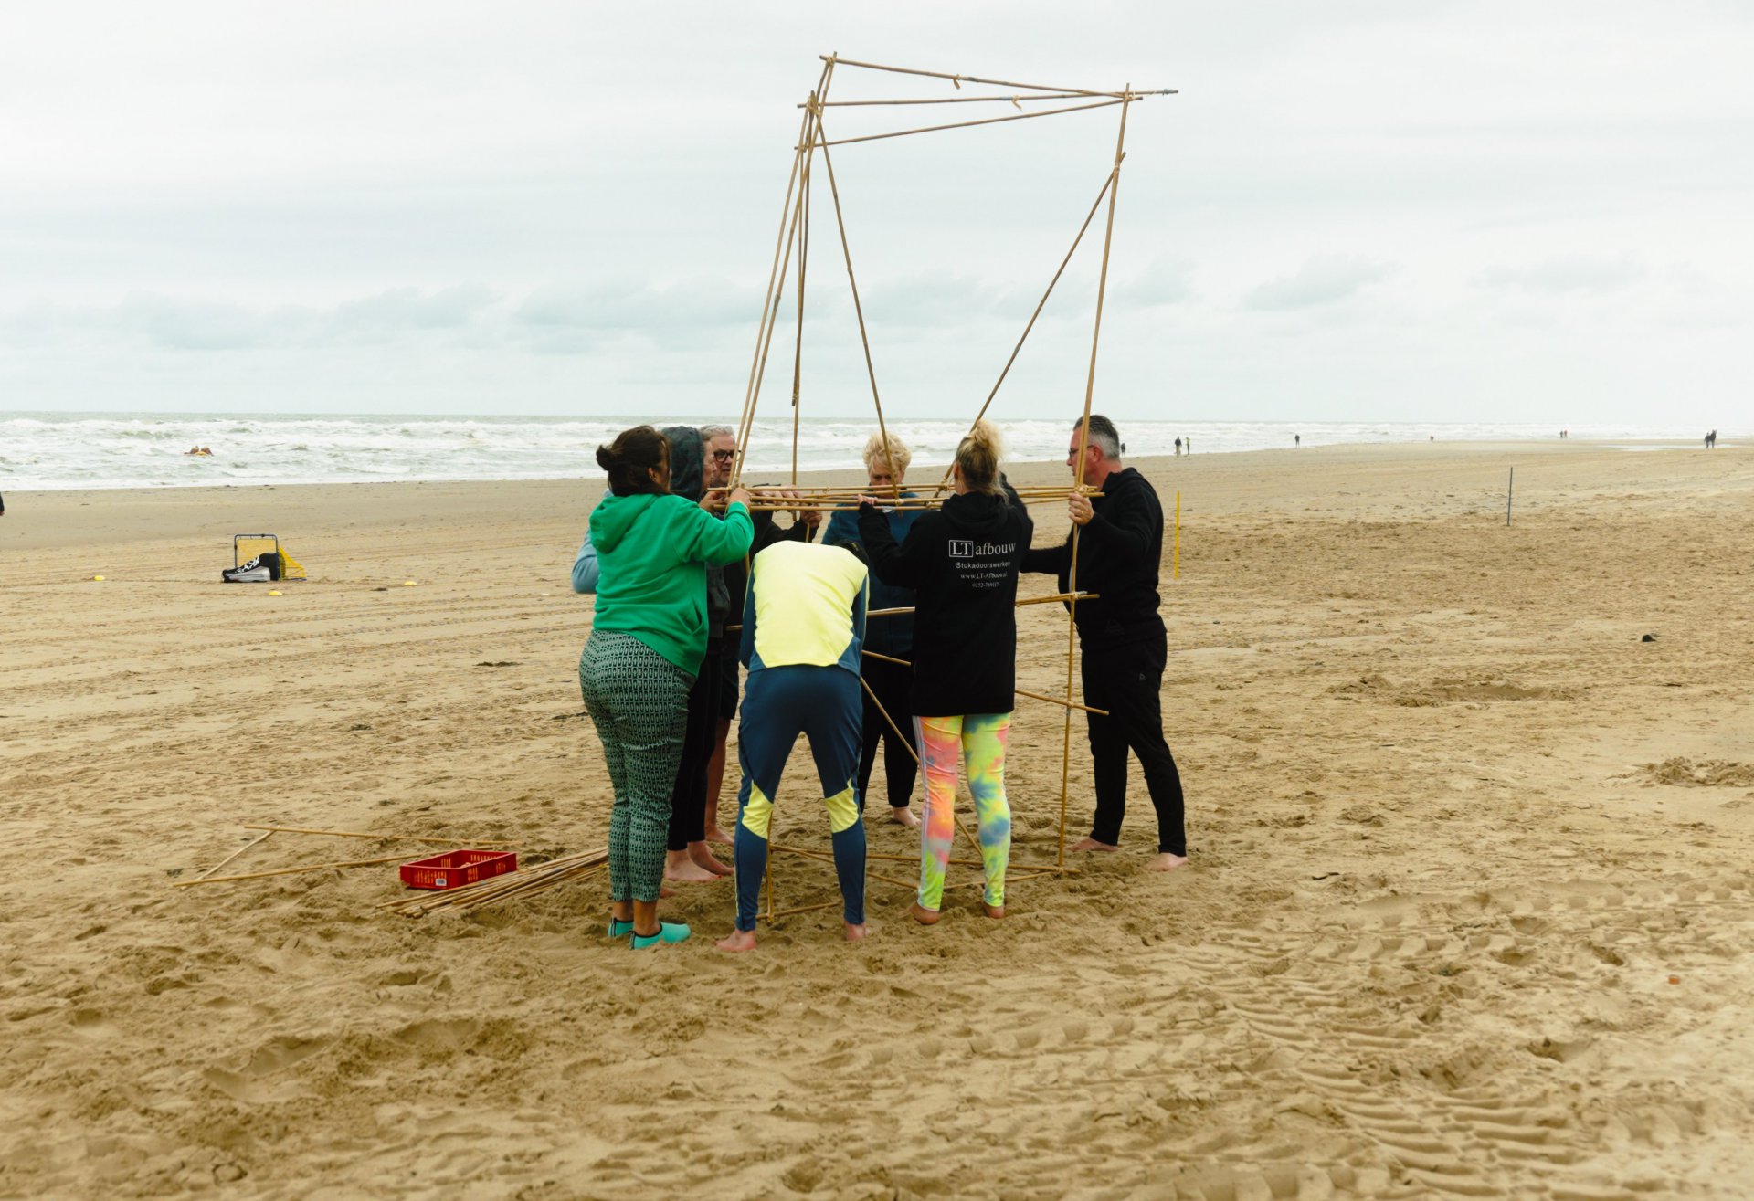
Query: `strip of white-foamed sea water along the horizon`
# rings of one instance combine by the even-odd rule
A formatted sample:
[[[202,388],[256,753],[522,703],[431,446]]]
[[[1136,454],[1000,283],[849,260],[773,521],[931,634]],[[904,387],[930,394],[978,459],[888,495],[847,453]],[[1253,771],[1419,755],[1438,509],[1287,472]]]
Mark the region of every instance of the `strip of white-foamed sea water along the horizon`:
[[[703,424],[698,414],[616,417],[393,417],[296,414],[0,414],[0,491],[63,487],[195,487],[214,484],[330,484],[361,480],[596,479],[596,447],[640,421]],[[726,424],[733,424],[731,421]],[[1012,461],[1061,461],[1065,421],[1000,421]],[[798,426],[800,470],[859,466],[875,431],[861,421],[807,419]],[[947,463],[966,419],[896,419],[921,465]],[[1573,438],[1698,442],[1700,430],[1575,426]],[[1531,424],[1130,421],[1128,456],[1194,454],[1337,444],[1556,440]],[[744,475],[775,482],[791,470],[789,421],[758,421]],[[212,456],[188,456],[210,447]]]

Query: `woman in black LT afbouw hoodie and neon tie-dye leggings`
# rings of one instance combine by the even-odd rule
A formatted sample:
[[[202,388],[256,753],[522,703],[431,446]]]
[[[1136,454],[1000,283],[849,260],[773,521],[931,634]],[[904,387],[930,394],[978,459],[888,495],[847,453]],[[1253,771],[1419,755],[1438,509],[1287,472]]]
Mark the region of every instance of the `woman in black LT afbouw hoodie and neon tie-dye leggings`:
[[[914,729],[926,771],[919,896],[914,919],[938,920],[944,868],[956,836],[956,759],[968,768],[980,829],[988,917],[1005,915],[1010,807],[1005,742],[1017,666],[1017,568],[1030,549],[1030,519],[1000,491],[998,431],[986,421],[956,447],[956,494],[921,515],[896,545],[877,498],[859,503],[859,535],[884,584],[912,587]]]

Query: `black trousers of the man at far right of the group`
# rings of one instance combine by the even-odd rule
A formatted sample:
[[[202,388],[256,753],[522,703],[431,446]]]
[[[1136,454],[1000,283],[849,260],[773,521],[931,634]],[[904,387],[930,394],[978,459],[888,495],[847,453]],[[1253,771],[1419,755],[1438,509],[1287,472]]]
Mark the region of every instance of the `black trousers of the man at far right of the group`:
[[[1107,708],[1089,719],[1091,763],[1096,775],[1096,819],[1091,838],[1110,847],[1121,842],[1126,817],[1126,752],[1138,756],[1145,789],[1158,810],[1158,850],[1187,854],[1182,829],[1182,775],[1163,740],[1163,666],[1168,659],[1163,622],[1142,626],[1137,636],[1116,645],[1084,649],[1084,703]]]

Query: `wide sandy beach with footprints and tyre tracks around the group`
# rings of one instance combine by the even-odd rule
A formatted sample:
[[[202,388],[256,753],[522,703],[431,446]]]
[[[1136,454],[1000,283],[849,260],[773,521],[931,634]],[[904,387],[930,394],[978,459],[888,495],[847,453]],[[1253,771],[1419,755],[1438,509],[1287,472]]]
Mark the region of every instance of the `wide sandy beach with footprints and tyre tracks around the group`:
[[[1191,866],[1140,871],[1135,770],[1121,852],[1003,922],[873,880],[866,942],[819,910],[747,957],[730,884],[667,901],[663,954],[602,938],[602,878],[424,919],[375,908],[395,863],[174,887],[247,824],[602,847],[598,484],[7,493],[0,1197],[1749,1196],[1754,452],[1137,466],[1182,505]],[[221,584],[260,529],[310,579]],[[1019,647],[1065,689],[1058,605]],[[1016,861],[1054,857],[1063,738],[1019,703]],[[1082,724],[1070,775],[1080,836]],[[826,843],[810,780],[781,840]],[[281,833],[226,873],[398,852]],[[781,905],[833,887],[777,863]]]

